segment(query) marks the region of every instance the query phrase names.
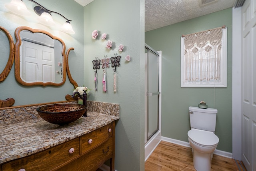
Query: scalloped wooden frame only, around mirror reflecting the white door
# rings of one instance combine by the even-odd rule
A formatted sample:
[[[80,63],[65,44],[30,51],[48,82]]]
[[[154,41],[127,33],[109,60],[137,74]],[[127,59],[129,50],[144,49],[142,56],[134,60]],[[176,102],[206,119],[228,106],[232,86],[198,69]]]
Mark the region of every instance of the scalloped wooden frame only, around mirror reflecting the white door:
[[[58,41],[60,41],[62,43],[62,57],[63,57],[63,61],[62,61],[62,67],[63,67],[63,71],[62,71],[62,82],[60,83],[53,83],[53,82],[24,82],[21,78],[20,78],[20,45],[22,43],[22,40],[20,38],[20,32],[22,30],[28,30],[32,33],[44,33],[46,35],[48,35],[50,38],[52,39],[56,39]],[[15,30],[15,38],[16,38],[16,43],[15,43],[15,78],[16,80],[22,84],[22,85],[26,85],[26,86],[31,86],[31,85],[42,85],[42,86],[46,86],[46,85],[54,85],[54,86],[59,86],[64,84],[64,82],[66,81],[66,55],[65,55],[65,50],[66,50],[66,45],[63,42],[62,39],[53,36],[52,34],[50,34],[49,32],[45,31],[45,30],[40,30],[40,29],[32,29],[26,26],[20,26],[18,28],[16,28]]]

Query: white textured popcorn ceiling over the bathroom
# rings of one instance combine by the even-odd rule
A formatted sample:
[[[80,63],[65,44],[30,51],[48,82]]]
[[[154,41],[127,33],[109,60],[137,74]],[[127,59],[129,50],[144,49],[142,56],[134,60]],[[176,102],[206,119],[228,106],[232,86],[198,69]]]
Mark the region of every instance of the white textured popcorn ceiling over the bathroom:
[[[93,0],[75,0],[86,6]],[[145,0],[145,32],[233,7],[236,0]],[[203,0],[210,1],[210,0]]]

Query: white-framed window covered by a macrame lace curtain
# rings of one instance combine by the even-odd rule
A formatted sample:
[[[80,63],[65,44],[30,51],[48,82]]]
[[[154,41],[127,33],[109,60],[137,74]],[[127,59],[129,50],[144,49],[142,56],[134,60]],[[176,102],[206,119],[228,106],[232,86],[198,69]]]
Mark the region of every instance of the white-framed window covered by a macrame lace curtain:
[[[181,87],[227,87],[227,28],[181,37]]]

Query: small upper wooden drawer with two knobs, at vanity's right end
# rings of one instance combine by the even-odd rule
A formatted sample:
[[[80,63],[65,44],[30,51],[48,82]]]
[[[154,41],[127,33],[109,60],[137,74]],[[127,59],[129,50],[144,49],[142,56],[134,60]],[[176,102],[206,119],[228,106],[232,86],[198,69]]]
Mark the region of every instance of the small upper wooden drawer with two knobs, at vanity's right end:
[[[112,123],[96,129],[86,135],[81,137],[82,141],[82,153],[86,153],[87,151],[94,149],[95,147],[104,143],[108,137],[112,135]]]

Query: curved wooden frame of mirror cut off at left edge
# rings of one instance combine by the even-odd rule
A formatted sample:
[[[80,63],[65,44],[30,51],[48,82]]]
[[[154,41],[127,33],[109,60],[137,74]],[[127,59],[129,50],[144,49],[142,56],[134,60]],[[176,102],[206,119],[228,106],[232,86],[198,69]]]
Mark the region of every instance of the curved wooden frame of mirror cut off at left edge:
[[[14,41],[13,41],[11,34],[5,28],[0,26],[0,30],[2,30],[6,34],[8,40],[9,40],[9,44],[10,44],[9,59],[8,59],[8,62],[6,64],[4,70],[0,74],[0,82],[2,82],[6,79],[6,77],[10,73],[10,70],[12,69],[12,64],[14,62]]]

